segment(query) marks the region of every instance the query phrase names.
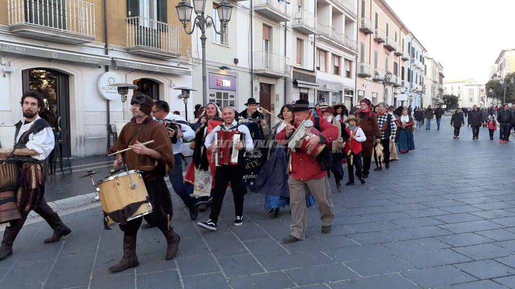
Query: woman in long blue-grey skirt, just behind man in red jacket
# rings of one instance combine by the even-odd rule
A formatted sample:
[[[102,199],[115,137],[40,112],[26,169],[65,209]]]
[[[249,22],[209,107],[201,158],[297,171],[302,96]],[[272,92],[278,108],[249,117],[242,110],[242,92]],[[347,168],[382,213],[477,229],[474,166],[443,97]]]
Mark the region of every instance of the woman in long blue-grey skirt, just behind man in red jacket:
[[[277,134],[286,127],[285,122],[293,124],[293,105],[283,105],[279,118],[284,122],[279,122],[271,129],[268,135],[268,140],[271,140],[269,141],[270,156],[256,178],[256,192],[265,193],[265,209],[271,217],[277,217],[279,208],[289,204],[287,173],[289,154],[286,144],[275,140]],[[307,207],[315,205],[315,199],[311,194],[306,196],[306,205]]]

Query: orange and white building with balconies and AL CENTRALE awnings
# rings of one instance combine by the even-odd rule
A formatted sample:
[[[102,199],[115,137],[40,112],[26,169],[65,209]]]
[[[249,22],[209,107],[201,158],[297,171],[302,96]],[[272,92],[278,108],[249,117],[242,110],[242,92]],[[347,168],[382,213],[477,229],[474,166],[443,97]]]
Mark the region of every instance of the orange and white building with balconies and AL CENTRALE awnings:
[[[192,85],[191,42],[177,19],[177,3],[0,2],[0,123],[22,119],[22,93],[40,91],[50,124],[66,135],[65,154],[83,157],[105,153],[108,124],[123,120],[121,98],[109,84],[135,84],[129,100],[141,91],[185,116],[173,88]],[[125,105],[130,119],[129,101]]]

